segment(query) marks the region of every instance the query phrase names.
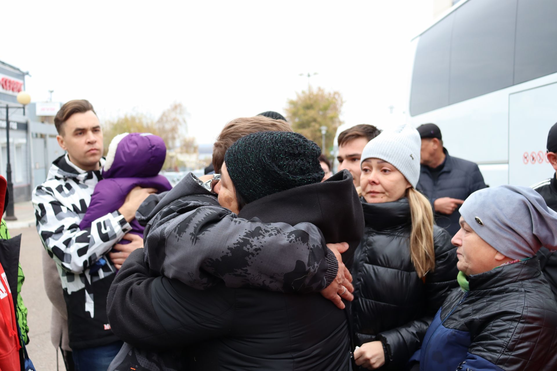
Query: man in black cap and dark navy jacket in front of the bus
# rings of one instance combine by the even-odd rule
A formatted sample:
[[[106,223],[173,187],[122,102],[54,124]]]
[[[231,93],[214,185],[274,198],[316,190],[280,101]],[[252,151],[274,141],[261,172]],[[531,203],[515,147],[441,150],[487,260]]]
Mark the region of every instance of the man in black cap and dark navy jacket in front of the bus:
[[[418,132],[422,166],[416,188],[431,201],[436,223],[454,236],[460,229],[458,208],[466,197],[486,187],[482,173],[475,163],[449,156],[434,123],[419,126]]]

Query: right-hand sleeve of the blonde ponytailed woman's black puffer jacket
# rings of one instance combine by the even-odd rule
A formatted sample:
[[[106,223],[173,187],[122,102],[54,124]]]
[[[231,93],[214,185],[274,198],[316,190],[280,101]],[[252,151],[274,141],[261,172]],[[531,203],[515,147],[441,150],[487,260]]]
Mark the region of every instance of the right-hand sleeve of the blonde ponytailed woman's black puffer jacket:
[[[402,369],[414,352],[422,344],[427,328],[444,299],[458,286],[456,277],[456,246],[451,237],[441,227],[434,227],[435,269],[426,275],[426,308],[424,316],[404,325],[379,334],[379,339],[387,346],[389,367]]]

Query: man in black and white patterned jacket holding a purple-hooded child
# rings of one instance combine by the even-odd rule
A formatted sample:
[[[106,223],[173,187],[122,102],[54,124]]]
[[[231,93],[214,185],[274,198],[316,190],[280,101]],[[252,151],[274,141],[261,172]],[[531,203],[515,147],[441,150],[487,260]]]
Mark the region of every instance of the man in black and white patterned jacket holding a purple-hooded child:
[[[48,255],[56,261],[62,281],[76,369],[106,370],[122,344],[111,332],[106,315],[114,263],[123,263],[131,251],[143,247],[143,239],[127,234],[129,222],[154,190],[136,187],[120,209],[81,230],[80,221],[102,179],[102,130],[86,100],[65,103],[56,114],[55,125],[58,144],[66,154],[52,163],[47,180],[33,191],[37,231]],[[117,244],[121,239],[131,242]],[[119,252],[108,254],[113,247]],[[91,266],[103,257],[106,264],[92,271]]]

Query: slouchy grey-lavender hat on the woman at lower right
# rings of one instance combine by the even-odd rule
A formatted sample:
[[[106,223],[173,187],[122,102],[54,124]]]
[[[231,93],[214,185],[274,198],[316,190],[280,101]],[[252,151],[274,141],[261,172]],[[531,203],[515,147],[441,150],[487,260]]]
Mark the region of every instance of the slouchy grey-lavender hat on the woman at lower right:
[[[473,192],[460,214],[486,243],[511,259],[557,249],[557,212],[530,187],[502,185]]]

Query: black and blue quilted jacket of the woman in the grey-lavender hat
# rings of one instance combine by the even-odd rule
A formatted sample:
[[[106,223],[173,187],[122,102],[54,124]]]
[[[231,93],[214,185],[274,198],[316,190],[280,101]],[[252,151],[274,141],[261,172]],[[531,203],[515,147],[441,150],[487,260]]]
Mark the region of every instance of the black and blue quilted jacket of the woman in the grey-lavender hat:
[[[422,371],[554,371],[557,306],[536,257],[468,276],[427,330]]]

